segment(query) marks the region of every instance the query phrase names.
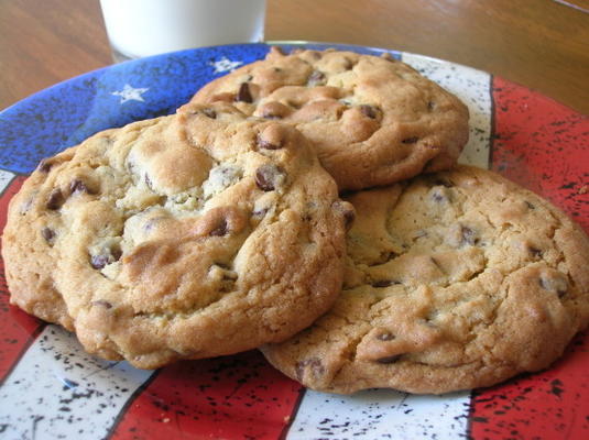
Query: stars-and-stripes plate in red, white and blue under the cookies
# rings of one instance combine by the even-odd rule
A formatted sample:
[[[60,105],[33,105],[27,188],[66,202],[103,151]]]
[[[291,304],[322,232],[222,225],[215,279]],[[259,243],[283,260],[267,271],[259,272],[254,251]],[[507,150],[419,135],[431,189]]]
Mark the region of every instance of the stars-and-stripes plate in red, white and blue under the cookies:
[[[589,231],[587,117],[497,76],[390,52],[459,96],[471,113],[460,161],[494,169],[550,199]],[[174,112],[209,80],[255,59],[266,44],[183,51],[96,70],[0,113],[0,221],[42,157],[97,131]],[[86,354],[76,339],[9,306],[0,292],[0,437],[8,439],[504,439],[589,438],[589,338],[549,370],[443,396],[371,389],[316,393],[257,351],[140,371]],[[166,437],[167,436],[167,437]]]

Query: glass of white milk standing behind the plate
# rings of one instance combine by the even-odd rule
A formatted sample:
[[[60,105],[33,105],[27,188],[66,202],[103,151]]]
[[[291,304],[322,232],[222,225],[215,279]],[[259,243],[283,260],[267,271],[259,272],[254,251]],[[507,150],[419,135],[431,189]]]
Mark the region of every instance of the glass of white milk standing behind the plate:
[[[264,37],[265,0],[100,0],[100,6],[116,62]]]

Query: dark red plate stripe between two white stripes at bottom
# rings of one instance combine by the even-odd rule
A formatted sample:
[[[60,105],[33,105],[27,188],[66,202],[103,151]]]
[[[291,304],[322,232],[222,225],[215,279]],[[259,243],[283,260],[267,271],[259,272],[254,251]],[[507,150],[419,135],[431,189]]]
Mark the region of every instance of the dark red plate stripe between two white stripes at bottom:
[[[301,392],[257,351],[179,362],[129,404],[110,439],[277,439]]]

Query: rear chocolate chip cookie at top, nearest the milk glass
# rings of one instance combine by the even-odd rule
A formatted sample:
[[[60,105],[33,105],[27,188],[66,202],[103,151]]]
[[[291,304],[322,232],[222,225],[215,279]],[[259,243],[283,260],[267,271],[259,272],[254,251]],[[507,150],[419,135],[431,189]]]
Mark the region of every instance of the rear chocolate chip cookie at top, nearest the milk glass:
[[[273,47],[193,98],[219,100],[296,125],[340,190],[447,169],[468,140],[466,106],[392,57]]]

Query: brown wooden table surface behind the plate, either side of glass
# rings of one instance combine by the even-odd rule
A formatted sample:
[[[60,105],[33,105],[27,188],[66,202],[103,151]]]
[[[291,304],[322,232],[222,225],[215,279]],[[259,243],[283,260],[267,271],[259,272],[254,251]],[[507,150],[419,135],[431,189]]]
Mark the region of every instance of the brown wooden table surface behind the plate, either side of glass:
[[[268,0],[265,36],[448,59],[589,114],[589,0]],[[111,63],[98,0],[0,0],[0,109]]]

